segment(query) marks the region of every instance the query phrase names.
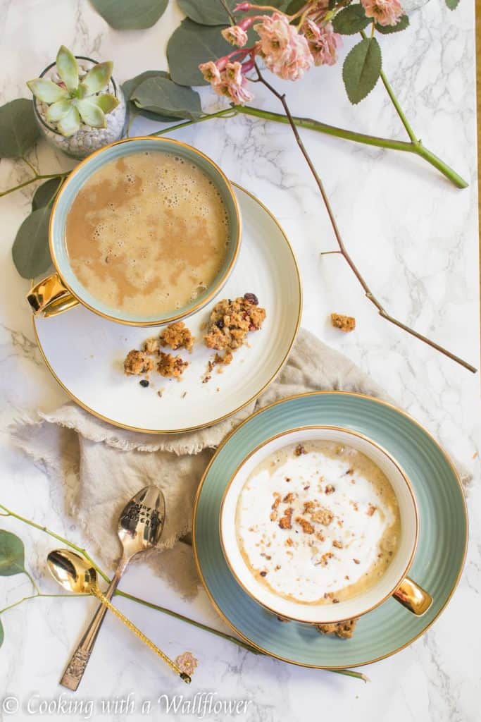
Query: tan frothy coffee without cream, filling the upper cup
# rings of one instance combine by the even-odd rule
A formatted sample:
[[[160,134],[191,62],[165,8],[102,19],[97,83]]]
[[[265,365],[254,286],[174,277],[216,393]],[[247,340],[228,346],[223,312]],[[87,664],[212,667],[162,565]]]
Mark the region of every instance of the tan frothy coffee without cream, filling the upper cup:
[[[67,217],[66,246],[81,284],[112,309],[138,316],[182,308],[211,285],[229,222],[212,181],[162,152],[107,163]]]

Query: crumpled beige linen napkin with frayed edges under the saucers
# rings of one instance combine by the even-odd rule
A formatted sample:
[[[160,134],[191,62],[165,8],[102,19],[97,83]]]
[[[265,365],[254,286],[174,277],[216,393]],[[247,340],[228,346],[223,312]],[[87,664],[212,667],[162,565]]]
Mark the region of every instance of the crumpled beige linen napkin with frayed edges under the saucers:
[[[45,464],[53,493],[82,529],[84,546],[105,569],[120,554],[117,519],[125,503],[146,484],[165,495],[167,523],[149,564],[184,596],[198,587],[193,553],[179,541],[190,532],[195,491],[213,449],[255,409],[294,393],[358,391],[390,400],[356,365],[301,329],[285,367],[254,403],[229,419],[183,434],[141,434],[110,426],[69,403],[55,412],[17,422],[14,441]],[[469,477],[464,474],[464,480]],[[177,542],[177,543],[176,543]],[[159,560],[162,551],[162,561]],[[145,557],[142,557],[145,560]]]

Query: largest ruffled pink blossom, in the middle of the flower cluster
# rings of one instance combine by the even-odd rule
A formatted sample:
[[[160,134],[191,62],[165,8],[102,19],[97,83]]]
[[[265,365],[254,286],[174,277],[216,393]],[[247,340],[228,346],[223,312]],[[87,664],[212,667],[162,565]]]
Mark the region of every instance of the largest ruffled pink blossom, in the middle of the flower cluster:
[[[298,80],[312,65],[312,55],[304,35],[289,24],[287,15],[273,12],[262,15],[254,25],[260,36],[255,48],[266,68],[284,80]]]

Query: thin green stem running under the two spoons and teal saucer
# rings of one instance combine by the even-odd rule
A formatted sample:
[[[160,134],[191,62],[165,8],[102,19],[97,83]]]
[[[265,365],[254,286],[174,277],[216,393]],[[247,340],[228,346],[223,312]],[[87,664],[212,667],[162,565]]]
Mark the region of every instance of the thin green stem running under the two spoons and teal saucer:
[[[67,547],[70,547],[71,549],[74,549],[74,551],[78,552],[82,556],[87,559],[87,561],[92,564],[94,569],[97,571],[97,574],[100,574],[100,576],[107,582],[110,583],[110,579],[108,576],[103,572],[100,567],[94,562],[92,557],[90,557],[89,554],[87,554],[86,550],[82,547],[78,547],[76,544],[72,544],[71,541],[68,539],[65,539],[63,536],[60,536],[60,534],[56,534],[54,531],[50,531],[50,529],[47,529],[46,526],[40,526],[40,524],[35,523],[35,521],[31,521],[30,519],[27,519],[25,516],[21,516],[20,514],[15,513],[11,509],[6,508],[3,504],[0,504],[1,513],[0,516],[12,516],[13,518],[17,519],[18,521],[22,521],[23,523],[27,524],[28,526],[33,526],[34,529],[38,529],[39,531],[43,531],[45,534],[48,534],[48,536],[52,536],[53,539],[56,539],[57,541],[61,541],[62,544],[66,544]],[[30,576],[30,575],[29,575]],[[246,649],[249,652],[252,652],[253,654],[262,654],[258,649],[255,647],[252,647],[247,642],[244,642],[243,640],[237,639],[236,637],[233,637],[232,635],[226,634],[225,632],[221,632],[220,630],[216,630],[213,627],[208,627],[208,625],[202,624],[202,622],[195,622],[194,619],[190,619],[190,617],[185,617],[184,614],[179,614],[178,612],[173,612],[172,609],[166,609],[163,606],[158,606],[157,604],[153,604],[150,601],[146,601],[145,599],[140,599],[138,596],[133,596],[133,594],[128,594],[127,592],[123,592],[120,590],[115,591],[115,595],[122,596],[124,599],[130,599],[131,601],[135,601],[138,604],[143,604],[144,606],[148,606],[149,609],[155,609],[157,612],[162,612],[163,614],[168,614],[169,617],[175,617],[175,619],[180,619],[181,622],[187,622],[187,624],[193,625],[194,627],[198,627],[198,629],[204,630],[205,632],[210,632],[213,635],[216,635],[218,637],[221,637],[239,647],[242,647]],[[14,604],[10,604],[9,606],[6,606],[5,609],[0,609],[0,614],[2,612],[6,612],[7,609],[12,609],[14,606],[18,606],[18,604],[21,604],[22,601],[27,601],[28,599],[35,599],[37,596],[61,596],[61,597],[73,597],[73,596],[85,596],[82,594],[43,594],[43,593],[37,593],[32,594],[31,596],[24,597],[23,599],[19,599],[18,601],[14,602]],[[336,674],[343,674],[345,677],[356,677],[357,679],[362,679],[363,682],[368,682],[369,677],[366,677],[366,674],[361,674],[361,672],[352,671],[350,669],[329,669],[327,671],[335,672]]]

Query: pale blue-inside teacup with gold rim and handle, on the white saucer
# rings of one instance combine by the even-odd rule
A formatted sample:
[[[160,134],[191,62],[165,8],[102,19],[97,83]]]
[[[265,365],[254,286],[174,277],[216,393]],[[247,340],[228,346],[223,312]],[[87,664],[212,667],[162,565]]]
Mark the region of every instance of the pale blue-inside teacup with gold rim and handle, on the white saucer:
[[[106,163],[138,152],[170,153],[193,162],[208,176],[219,191],[229,220],[226,256],[213,282],[195,300],[187,303],[184,307],[172,308],[172,310],[157,316],[136,316],[128,311],[111,308],[95,299],[74,274],[66,249],[67,216],[84,183]],[[35,284],[27,295],[27,301],[30,303],[34,315],[44,318],[56,316],[80,303],[103,318],[129,326],[162,326],[165,323],[179,321],[203,308],[221,291],[239,255],[241,226],[239,204],[231,183],[219,166],[206,155],[190,145],[169,138],[140,136],[120,140],[89,155],[72,170],[69,178],[63,184],[53,204],[49,226],[50,255],[56,272]]]

